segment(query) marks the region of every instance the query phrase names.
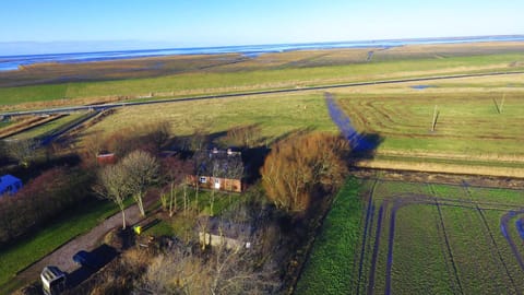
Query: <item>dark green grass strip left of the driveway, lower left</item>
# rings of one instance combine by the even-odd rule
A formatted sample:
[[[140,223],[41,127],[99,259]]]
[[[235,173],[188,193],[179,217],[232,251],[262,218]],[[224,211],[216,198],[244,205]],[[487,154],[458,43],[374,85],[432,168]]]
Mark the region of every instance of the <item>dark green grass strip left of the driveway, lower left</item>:
[[[17,286],[12,280],[16,272],[117,212],[118,208],[109,201],[90,200],[44,229],[3,249],[0,252],[0,293],[9,294]]]

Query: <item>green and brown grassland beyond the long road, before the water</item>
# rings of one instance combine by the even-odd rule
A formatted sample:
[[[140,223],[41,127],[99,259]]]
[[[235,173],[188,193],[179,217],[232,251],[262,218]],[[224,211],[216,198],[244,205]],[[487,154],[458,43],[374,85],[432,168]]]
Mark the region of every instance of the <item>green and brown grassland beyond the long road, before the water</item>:
[[[79,102],[71,99],[88,97],[124,99],[151,94],[176,97],[524,69],[524,46],[521,43],[499,46],[476,45],[476,49],[458,45],[403,46],[377,50],[371,61],[366,61],[366,57],[374,48],[293,51],[262,55],[254,59],[226,55],[222,57],[223,60],[221,57],[199,56],[95,62],[76,68],[72,64],[34,66],[5,76],[7,82],[0,87],[0,104],[7,110],[12,109],[13,105],[17,105],[14,107],[16,109],[24,108],[23,104],[38,102],[55,101],[48,105],[75,104]],[[152,64],[157,63],[166,68],[158,72],[151,70]],[[140,70],[141,67],[146,68],[142,74],[132,73],[131,69]],[[55,68],[56,81],[39,78],[46,69],[52,72]],[[85,71],[85,75],[82,75]],[[100,76],[97,76],[97,72]],[[61,75],[80,75],[84,79]],[[24,81],[36,84],[9,86]]]

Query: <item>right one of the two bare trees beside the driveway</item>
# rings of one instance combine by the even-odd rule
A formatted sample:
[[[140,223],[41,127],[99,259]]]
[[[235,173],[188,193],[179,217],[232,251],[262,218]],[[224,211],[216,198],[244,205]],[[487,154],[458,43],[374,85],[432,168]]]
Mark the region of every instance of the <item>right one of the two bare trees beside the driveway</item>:
[[[119,165],[127,176],[124,185],[139,205],[140,214],[145,216],[143,197],[147,188],[158,179],[158,161],[139,150],[129,153]]]

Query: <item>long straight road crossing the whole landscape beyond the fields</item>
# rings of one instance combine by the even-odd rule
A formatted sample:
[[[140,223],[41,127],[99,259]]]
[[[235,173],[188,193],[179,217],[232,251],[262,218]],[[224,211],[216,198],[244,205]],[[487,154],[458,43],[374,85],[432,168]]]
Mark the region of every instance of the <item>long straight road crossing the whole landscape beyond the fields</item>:
[[[146,101],[146,102],[134,102],[134,103],[115,103],[115,104],[92,105],[92,106],[71,106],[71,107],[48,108],[48,109],[39,109],[39,110],[0,113],[0,118],[2,118],[2,117],[13,117],[13,116],[25,116],[25,115],[67,114],[67,113],[82,111],[82,110],[104,110],[104,109],[116,108],[116,107],[126,107],[126,106],[166,104],[166,103],[178,103],[178,102],[202,101],[202,99],[217,99],[217,98],[228,98],[228,97],[238,97],[238,96],[248,96],[248,95],[265,95],[265,94],[275,94],[275,93],[291,93],[291,92],[330,90],[330,88],[342,88],[342,87],[356,87],[356,86],[368,86],[368,85],[380,85],[380,84],[396,84],[396,83],[406,83],[406,82],[424,82],[424,81],[434,81],[434,80],[449,80],[449,79],[475,78],[475,76],[510,75],[510,74],[523,74],[523,73],[524,73],[524,71],[438,75],[438,76],[428,76],[428,78],[383,80],[383,81],[372,81],[372,82],[356,82],[356,83],[346,83],[346,84],[333,84],[333,85],[323,85],[323,86],[309,86],[309,87],[298,87],[298,88],[272,90],[272,91],[261,91],[261,92],[243,92],[243,93],[233,93],[233,94],[222,94],[222,95],[165,98],[165,99],[155,99],[155,101]]]

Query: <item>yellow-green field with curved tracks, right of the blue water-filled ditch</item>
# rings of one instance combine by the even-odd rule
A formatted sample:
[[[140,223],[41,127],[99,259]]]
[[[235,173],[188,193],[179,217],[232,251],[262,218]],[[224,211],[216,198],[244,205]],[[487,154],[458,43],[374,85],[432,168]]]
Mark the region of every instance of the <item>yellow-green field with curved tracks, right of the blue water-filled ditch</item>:
[[[418,165],[444,172],[445,164],[458,164],[522,177],[523,82],[519,74],[433,81],[424,90],[413,88],[415,83],[337,90],[334,95],[358,132],[383,139],[373,160],[382,168]],[[468,173],[460,167],[445,172],[454,170]]]

